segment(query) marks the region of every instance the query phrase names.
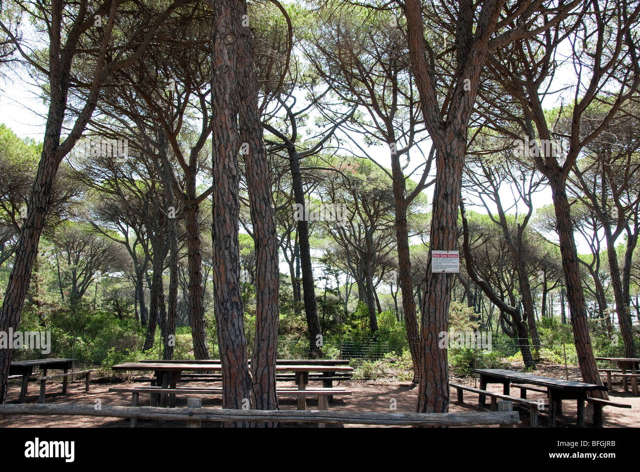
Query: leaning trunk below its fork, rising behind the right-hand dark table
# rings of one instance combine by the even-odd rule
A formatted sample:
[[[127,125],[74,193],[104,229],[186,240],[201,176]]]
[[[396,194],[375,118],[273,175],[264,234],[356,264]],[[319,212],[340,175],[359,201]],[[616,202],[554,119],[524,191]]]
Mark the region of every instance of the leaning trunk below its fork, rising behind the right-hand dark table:
[[[560,239],[566,294],[569,299],[569,313],[580,372],[582,372],[582,379],[585,382],[602,385],[600,374],[598,374],[598,366],[593,356],[591,336],[589,336],[587,308],[584,302],[582,285],[580,285],[580,265],[575,239],[573,239],[570,206],[566,198],[565,182],[561,176],[561,170],[550,175],[549,184],[551,185],[554,207],[556,208],[556,230]],[[593,391],[591,395],[599,398],[609,398],[607,393],[602,391]]]

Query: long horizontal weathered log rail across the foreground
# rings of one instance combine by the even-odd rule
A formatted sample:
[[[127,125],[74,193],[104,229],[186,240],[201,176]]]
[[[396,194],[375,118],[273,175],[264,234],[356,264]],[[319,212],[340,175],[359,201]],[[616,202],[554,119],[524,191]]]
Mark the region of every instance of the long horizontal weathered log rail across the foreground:
[[[510,403],[510,402],[505,402]],[[511,405],[504,405],[509,408]],[[516,411],[471,411],[461,413],[399,413],[399,412],[357,412],[357,411],[317,411],[317,410],[232,410],[220,408],[158,408],[146,406],[109,406],[82,404],[4,404],[0,405],[0,415],[76,415],[108,416],[115,418],[137,418],[145,420],[188,420],[195,421],[244,421],[280,423],[342,423],[355,425],[390,426],[479,426],[506,425],[520,422]]]

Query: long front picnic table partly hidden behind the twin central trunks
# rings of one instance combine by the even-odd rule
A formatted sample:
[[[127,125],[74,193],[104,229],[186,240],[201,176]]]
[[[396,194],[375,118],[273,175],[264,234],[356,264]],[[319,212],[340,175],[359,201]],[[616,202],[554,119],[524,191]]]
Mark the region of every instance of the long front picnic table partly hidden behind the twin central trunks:
[[[113,370],[153,370],[156,377],[161,381],[163,389],[175,389],[180,375],[184,371],[207,372],[220,371],[222,365],[220,363],[203,363],[203,362],[183,362],[183,361],[165,361],[165,362],[127,362],[112,367]],[[294,372],[298,390],[306,390],[309,381],[309,372],[351,372],[353,368],[349,366],[335,365],[276,365],[276,372]],[[298,397],[298,407],[303,406],[305,397]],[[164,403],[164,402],[163,402]],[[175,395],[169,395],[169,406],[175,407]],[[304,409],[302,407],[301,409]]]

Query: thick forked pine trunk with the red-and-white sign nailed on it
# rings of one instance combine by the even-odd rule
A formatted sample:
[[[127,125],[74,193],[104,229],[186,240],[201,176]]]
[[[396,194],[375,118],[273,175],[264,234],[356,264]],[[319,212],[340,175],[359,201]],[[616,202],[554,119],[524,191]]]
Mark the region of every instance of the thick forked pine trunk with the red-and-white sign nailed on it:
[[[403,5],[409,56],[419,90],[422,116],[437,150],[429,264],[422,300],[418,412],[444,413],[449,409],[447,350],[438,349],[438,334],[448,331],[453,276],[431,272],[431,251],[454,251],[458,248],[458,205],[468,122],[476,102],[480,73],[488,55],[488,40],[495,29],[500,8],[502,3],[499,2],[483,5],[474,32],[473,3],[460,3],[456,31],[457,70],[454,72],[456,86],[448,109],[443,109],[436,96],[433,70],[427,62],[420,2],[406,0]]]

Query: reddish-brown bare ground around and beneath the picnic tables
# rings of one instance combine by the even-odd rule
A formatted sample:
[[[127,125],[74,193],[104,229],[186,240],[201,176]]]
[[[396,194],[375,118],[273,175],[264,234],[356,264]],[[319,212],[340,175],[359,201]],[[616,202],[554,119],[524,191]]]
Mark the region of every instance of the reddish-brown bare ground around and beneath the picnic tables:
[[[520,370],[519,366],[514,363],[511,367],[513,370]],[[522,366],[520,366],[522,367]],[[564,366],[558,365],[539,365],[538,369],[533,373],[538,375],[547,375],[549,377],[565,377],[566,371]],[[568,368],[570,379],[579,380],[579,370],[577,368]],[[451,381],[467,383],[477,386],[474,379],[460,379],[452,377]],[[102,405],[131,405],[130,393],[109,393],[109,388],[114,386],[140,386],[143,384],[131,382],[104,382],[102,379],[92,381],[91,391],[84,392],[84,380],[72,382],[68,386],[67,395],[61,395],[61,383],[51,382],[47,384],[47,404],[54,403],[76,403],[76,404],[95,404],[95,400],[100,400]],[[186,385],[186,384],[180,384]],[[207,386],[207,382],[191,382],[189,386]],[[278,382],[278,386],[294,386],[293,382]],[[337,386],[337,382],[336,382]],[[339,386],[348,388],[351,395],[339,397],[335,396],[333,402],[329,404],[329,409],[338,411],[390,411],[392,404],[395,404],[396,411],[415,411],[417,400],[417,387],[408,382],[397,382],[392,378],[377,379],[375,381],[365,382],[342,382]],[[490,385],[488,389],[492,391],[502,391],[501,385]],[[12,383],[8,391],[8,403],[17,403],[19,398],[19,384]],[[518,396],[520,391],[515,389],[512,395]],[[543,398],[542,393],[528,392],[527,398],[538,400]],[[604,409],[604,427],[640,427],[640,397],[634,396],[630,392],[623,392],[620,383],[614,381],[613,390],[609,391],[609,398],[615,402],[621,402],[633,405],[632,409],[605,407]],[[394,402],[395,400],[395,402]],[[483,411],[477,406],[477,395],[465,392],[465,403],[459,404],[456,400],[456,392],[451,392],[451,405],[449,411]],[[28,403],[38,402],[38,388],[33,382],[29,385],[29,393],[27,395]],[[176,399],[177,406],[186,406],[186,396],[179,395]],[[487,402],[488,405],[489,402]],[[148,395],[140,395],[140,405],[149,405]],[[280,409],[294,410],[296,409],[297,400],[294,398],[280,399]],[[216,397],[202,397],[202,406],[204,407],[221,407],[221,399]],[[317,398],[307,398],[307,409],[316,409]],[[575,428],[577,406],[572,400],[563,401],[563,416],[558,416],[557,427]],[[547,427],[548,415],[541,412],[540,427]],[[527,409],[520,409],[521,427],[529,426],[529,412]],[[593,408],[586,405],[586,424],[587,427],[593,427]],[[184,427],[184,421],[152,421],[138,420],[138,427],[154,428],[154,427]],[[298,427],[297,425],[282,424],[282,427]],[[308,424],[303,427],[315,427],[314,424]],[[328,427],[342,427],[342,425],[327,425]],[[100,418],[97,416],[12,416],[0,417],[0,427],[107,427],[107,428],[127,428],[129,420],[118,418]],[[213,421],[203,421],[202,427],[220,427],[220,423]],[[358,425],[345,425],[344,427],[358,427]]]

